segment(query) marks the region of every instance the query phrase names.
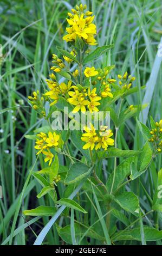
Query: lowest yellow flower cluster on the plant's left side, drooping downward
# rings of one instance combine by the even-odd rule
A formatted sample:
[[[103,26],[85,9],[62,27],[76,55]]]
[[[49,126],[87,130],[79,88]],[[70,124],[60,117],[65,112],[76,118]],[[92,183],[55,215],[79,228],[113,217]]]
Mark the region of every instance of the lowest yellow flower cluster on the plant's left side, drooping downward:
[[[49,161],[49,166],[53,160],[54,155],[51,153],[50,149],[55,148],[59,145],[60,135],[56,135],[55,132],[48,132],[48,135],[44,132],[37,134],[35,149],[38,150],[37,155],[43,153],[45,155],[44,162]]]

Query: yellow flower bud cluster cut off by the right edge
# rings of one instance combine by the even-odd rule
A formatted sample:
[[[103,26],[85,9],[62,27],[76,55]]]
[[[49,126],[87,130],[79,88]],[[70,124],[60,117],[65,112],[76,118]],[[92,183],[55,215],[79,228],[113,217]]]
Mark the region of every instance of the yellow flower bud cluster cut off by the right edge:
[[[162,119],[155,123],[156,128],[152,129],[150,134],[151,138],[148,139],[149,142],[155,143],[157,145],[158,153],[162,151]]]

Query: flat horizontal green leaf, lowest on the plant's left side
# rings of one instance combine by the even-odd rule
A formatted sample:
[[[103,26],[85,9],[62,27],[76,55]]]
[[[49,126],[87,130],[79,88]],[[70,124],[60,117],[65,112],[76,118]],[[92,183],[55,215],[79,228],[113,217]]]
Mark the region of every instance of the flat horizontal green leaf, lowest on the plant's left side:
[[[29,216],[53,216],[56,213],[56,208],[53,206],[38,206],[35,209],[23,211],[24,215]]]

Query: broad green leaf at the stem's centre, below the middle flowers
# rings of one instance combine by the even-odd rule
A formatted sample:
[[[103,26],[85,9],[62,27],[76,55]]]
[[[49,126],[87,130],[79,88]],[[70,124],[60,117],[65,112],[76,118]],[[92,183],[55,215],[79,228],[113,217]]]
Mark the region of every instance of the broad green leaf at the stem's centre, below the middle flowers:
[[[93,167],[89,168],[84,163],[74,163],[66,175],[64,180],[65,184],[73,184],[75,182],[81,181],[83,178],[87,178],[92,172]]]

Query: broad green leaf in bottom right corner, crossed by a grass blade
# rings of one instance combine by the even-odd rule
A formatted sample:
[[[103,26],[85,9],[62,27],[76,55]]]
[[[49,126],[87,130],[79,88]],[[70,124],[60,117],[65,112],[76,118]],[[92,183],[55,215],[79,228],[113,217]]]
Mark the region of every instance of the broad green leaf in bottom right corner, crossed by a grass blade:
[[[157,230],[144,225],[144,233],[146,241],[157,241],[162,239],[162,230]],[[112,241],[136,240],[141,241],[140,227],[131,230],[119,231],[111,237]]]

